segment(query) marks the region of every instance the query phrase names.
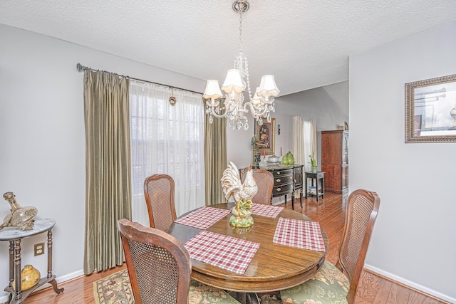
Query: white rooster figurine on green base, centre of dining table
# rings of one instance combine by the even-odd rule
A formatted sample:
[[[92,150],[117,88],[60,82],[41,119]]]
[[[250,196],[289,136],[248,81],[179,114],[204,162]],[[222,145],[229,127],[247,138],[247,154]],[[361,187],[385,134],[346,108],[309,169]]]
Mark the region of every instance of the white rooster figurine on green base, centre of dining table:
[[[222,174],[221,182],[225,198],[229,199],[233,196],[234,201],[236,201],[236,207],[232,210],[234,216],[229,220],[230,224],[243,227],[252,226],[253,218],[250,216],[252,214],[250,207],[252,206],[252,197],[258,192],[252,167],[249,165],[244,184],[241,184],[239,170],[233,162],[229,162],[227,169]]]

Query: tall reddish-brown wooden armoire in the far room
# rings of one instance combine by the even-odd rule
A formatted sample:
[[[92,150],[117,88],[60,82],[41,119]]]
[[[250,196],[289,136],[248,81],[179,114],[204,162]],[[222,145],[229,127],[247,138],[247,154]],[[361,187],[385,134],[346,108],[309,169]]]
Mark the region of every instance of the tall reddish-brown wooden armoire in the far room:
[[[348,195],[348,130],[321,131],[325,191]]]

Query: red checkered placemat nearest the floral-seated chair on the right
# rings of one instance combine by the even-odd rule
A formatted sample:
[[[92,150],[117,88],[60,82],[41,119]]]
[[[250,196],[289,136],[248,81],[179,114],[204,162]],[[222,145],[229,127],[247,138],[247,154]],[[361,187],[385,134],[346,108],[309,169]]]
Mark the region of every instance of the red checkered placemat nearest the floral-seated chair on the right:
[[[314,251],[325,251],[320,224],[316,221],[281,217],[276,226],[273,243]]]

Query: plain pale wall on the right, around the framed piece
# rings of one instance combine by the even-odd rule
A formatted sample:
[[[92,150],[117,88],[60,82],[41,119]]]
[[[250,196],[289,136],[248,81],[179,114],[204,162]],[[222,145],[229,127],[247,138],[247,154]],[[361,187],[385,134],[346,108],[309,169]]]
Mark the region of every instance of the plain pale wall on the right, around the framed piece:
[[[350,58],[350,191],[380,196],[366,267],[456,303],[456,143],[405,144],[405,83],[456,74],[456,23]]]

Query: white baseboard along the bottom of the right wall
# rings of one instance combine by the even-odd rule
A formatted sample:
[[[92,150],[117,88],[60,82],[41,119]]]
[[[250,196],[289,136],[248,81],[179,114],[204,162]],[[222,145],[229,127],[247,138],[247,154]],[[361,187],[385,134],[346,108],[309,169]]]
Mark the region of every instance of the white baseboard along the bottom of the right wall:
[[[440,300],[442,302],[447,302],[447,304],[456,303],[456,298],[452,298],[449,295],[444,295],[439,293],[435,290],[427,288],[423,285],[417,284],[412,281],[408,281],[405,278],[401,278],[400,276],[396,276],[393,273],[388,273],[387,271],[383,271],[380,268],[376,268],[374,266],[364,264],[364,270],[372,273],[374,276],[379,276],[380,278],[384,278],[388,281],[393,281],[393,283],[404,285],[406,288],[410,288],[415,290],[417,293],[421,293],[431,298],[435,298],[435,300]]]

